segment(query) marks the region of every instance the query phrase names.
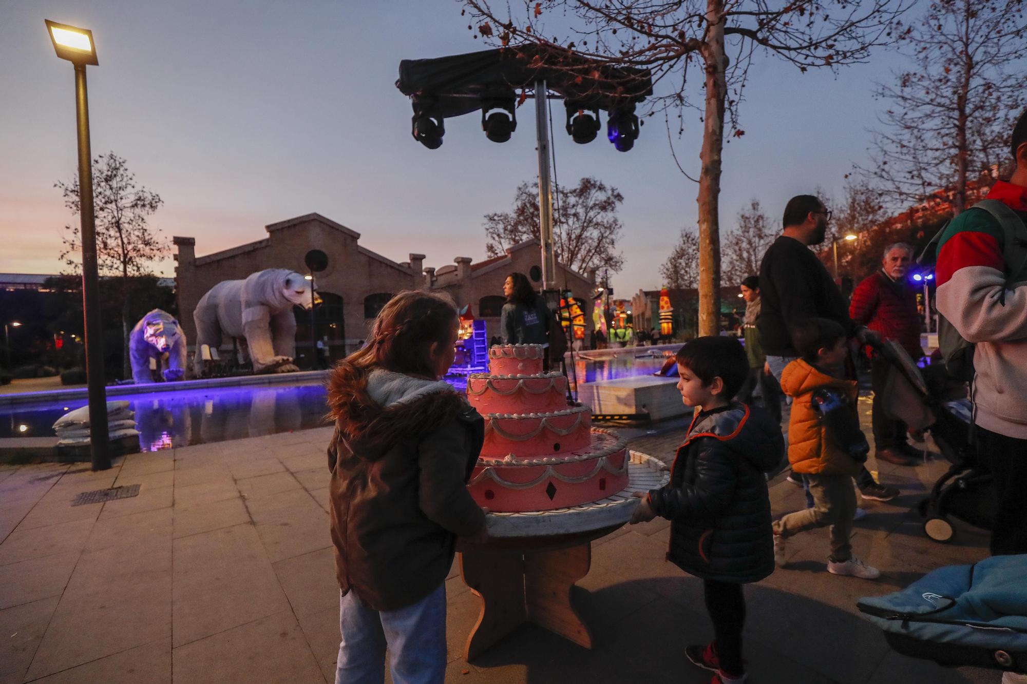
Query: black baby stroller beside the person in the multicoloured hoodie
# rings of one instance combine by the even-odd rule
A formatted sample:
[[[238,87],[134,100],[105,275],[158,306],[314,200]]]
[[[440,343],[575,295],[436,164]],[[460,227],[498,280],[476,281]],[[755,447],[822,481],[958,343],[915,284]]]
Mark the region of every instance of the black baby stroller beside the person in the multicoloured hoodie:
[[[945,543],[955,536],[949,517],[990,530],[995,516],[992,477],[978,461],[972,444],[973,413],[966,386],[953,382],[942,366],[917,368],[906,351],[888,341],[877,352],[889,364],[882,408],[911,431],[929,430],[951,464],[920,501],[923,532]]]

